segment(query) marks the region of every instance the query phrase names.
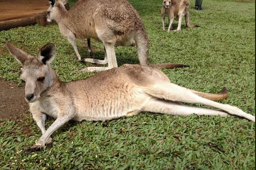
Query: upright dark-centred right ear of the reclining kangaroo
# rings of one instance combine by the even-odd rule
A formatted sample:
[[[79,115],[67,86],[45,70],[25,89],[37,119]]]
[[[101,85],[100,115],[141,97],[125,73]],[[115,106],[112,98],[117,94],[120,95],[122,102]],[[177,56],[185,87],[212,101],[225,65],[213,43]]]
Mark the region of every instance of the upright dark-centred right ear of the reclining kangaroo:
[[[55,46],[53,43],[48,43],[41,47],[38,55],[38,61],[43,64],[51,63],[55,56]]]

